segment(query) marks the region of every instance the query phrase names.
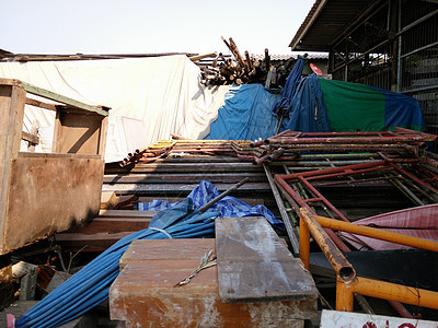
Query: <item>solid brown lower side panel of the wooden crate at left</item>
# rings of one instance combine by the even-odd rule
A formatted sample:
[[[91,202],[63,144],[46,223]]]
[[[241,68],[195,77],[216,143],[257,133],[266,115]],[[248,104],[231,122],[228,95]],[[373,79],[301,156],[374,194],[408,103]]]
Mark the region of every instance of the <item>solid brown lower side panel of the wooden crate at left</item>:
[[[103,160],[20,153],[12,160],[2,250],[99,214]]]

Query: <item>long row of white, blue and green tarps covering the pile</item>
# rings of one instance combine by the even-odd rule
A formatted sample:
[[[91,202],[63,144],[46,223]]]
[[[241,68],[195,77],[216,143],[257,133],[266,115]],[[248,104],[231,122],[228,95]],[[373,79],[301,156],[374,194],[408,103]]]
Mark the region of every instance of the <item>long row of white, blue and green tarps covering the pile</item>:
[[[283,95],[261,84],[205,87],[199,83],[199,68],[182,55],[0,62],[0,77],[19,79],[90,105],[112,107],[106,162],[120,161],[128,152],[170,139],[172,133],[186,139],[255,140],[285,129],[424,129],[416,99],[314,75],[300,81],[302,65],[303,59],[296,62]],[[30,132],[37,120],[42,151],[51,149],[45,143],[51,142],[54,115],[26,108],[24,129]]]

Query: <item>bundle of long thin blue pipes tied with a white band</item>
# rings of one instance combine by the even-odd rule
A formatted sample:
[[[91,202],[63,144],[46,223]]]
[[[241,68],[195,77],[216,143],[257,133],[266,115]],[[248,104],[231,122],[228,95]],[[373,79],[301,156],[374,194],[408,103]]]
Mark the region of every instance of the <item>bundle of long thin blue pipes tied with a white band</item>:
[[[148,229],[125,236],[25,313],[15,327],[57,327],[108,297],[122,255],[134,239],[214,237],[220,212],[193,210],[192,198],[154,215]]]

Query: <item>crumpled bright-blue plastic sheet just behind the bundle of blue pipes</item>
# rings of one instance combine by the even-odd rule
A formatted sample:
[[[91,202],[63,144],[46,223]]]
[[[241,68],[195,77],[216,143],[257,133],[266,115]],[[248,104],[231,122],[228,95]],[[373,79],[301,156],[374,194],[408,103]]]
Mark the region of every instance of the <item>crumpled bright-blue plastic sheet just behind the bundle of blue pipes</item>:
[[[201,180],[199,186],[192,190],[187,198],[193,199],[193,203],[196,208],[200,208],[206,204],[215,197],[219,196],[220,192],[216,186],[207,180]],[[149,203],[138,203],[138,209],[143,211],[161,211],[173,207],[177,203],[170,203],[165,200],[153,200]],[[277,229],[285,229],[283,221],[274,216],[274,214],[265,206],[251,207],[247,203],[231,197],[226,196],[211,208],[208,212],[219,212],[221,218],[242,218],[242,216],[265,216],[265,219]]]

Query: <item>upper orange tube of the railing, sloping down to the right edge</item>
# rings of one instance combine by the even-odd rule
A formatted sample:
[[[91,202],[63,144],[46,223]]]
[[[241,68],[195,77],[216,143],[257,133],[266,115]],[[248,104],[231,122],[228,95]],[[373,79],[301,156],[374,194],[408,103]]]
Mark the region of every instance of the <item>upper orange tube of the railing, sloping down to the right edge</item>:
[[[422,248],[431,251],[438,251],[438,243],[429,239],[417,238],[403,234],[397,234],[389,231],[383,231],[376,227],[358,225],[348,222],[342,222],[324,216],[315,216],[321,226],[348,232],[361,236],[377,238],[390,243],[396,243],[405,246]]]

